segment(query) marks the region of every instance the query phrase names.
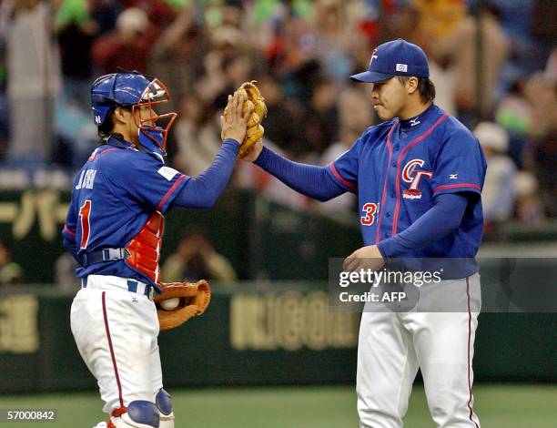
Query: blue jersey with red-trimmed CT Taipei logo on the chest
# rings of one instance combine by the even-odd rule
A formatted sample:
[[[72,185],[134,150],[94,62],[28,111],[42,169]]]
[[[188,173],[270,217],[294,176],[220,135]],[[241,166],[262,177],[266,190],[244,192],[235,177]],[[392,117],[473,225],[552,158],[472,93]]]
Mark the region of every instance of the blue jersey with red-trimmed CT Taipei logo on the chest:
[[[469,192],[461,225],[429,247],[403,258],[461,258],[464,276],[478,270],[483,215],[481,189],[486,161],[480,143],[454,117],[431,105],[419,117],[393,119],[368,128],[329,164],[329,175],[359,199],[365,245],[407,229],[443,193]]]

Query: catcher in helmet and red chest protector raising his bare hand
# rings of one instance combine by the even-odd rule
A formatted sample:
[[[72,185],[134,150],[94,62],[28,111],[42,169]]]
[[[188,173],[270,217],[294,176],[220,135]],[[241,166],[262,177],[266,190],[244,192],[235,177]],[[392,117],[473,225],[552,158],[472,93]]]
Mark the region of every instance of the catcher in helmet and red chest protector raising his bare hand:
[[[96,428],[175,427],[158,332],[203,313],[210,288],[207,281],[160,282],[165,215],[212,207],[246,144],[251,109],[237,91],[228,97],[222,146],[205,172],[193,178],[168,167],[167,135],[177,114],[157,109],[169,99],[163,82],[137,71],[100,76],[91,87],[99,145],[76,176],[62,234],[81,279],[72,333],[109,418]]]

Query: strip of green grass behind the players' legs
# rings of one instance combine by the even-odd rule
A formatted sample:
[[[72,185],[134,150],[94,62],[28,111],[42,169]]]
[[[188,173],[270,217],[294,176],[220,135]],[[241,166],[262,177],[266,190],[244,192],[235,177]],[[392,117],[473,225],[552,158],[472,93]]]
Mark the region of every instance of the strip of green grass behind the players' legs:
[[[348,386],[171,390],[177,428],[358,427],[356,394]],[[478,385],[475,410],[483,428],[545,428],[557,421],[557,387]],[[58,423],[25,426],[91,428],[103,420],[96,393],[72,392],[0,397],[0,408],[54,408]],[[433,427],[423,389],[414,388],[405,419],[409,428]],[[0,423],[8,426],[7,423]]]

